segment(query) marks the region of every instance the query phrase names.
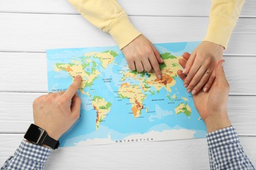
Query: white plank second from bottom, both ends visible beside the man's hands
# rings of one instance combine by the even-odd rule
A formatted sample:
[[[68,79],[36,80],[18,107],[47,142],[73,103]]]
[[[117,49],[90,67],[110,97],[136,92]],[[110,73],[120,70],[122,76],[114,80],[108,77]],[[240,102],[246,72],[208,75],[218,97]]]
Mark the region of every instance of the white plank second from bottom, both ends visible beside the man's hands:
[[[0,93],[0,133],[24,133],[33,123],[33,100],[46,93]],[[256,136],[256,96],[230,96],[228,114],[239,135]]]

